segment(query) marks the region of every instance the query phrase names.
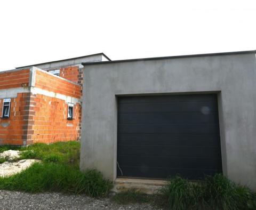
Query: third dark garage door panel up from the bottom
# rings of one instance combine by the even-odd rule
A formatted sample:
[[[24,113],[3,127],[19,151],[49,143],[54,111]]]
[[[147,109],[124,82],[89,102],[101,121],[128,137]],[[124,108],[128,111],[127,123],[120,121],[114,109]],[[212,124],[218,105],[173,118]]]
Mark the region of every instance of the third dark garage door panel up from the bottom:
[[[118,155],[131,156],[179,156],[179,157],[214,157],[219,155],[218,147],[191,147],[191,146],[170,146],[165,145],[137,145],[119,144]]]

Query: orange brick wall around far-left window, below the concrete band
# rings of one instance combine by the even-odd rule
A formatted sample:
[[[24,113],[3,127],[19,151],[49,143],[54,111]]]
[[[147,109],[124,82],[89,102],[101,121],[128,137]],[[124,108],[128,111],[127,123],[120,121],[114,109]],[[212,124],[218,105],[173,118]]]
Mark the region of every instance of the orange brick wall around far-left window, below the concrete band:
[[[11,99],[10,117],[0,118],[0,144],[22,145],[27,139],[30,93],[18,93]],[[0,115],[2,117],[3,99],[0,99]],[[30,119],[30,120],[29,120]]]

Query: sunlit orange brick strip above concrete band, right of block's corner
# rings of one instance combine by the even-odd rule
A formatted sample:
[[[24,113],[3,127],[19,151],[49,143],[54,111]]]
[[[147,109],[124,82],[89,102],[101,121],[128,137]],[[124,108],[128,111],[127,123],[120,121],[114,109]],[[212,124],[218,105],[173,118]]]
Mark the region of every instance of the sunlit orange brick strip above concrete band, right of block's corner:
[[[80,85],[75,85],[39,70],[36,71],[35,87],[75,98],[81,97]]]

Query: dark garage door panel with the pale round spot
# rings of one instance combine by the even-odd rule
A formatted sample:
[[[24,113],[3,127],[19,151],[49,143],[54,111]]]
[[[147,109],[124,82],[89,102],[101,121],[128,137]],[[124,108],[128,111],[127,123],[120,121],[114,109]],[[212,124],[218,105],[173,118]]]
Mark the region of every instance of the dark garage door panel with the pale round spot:
[[[121,103],[119,113],[145,113],[145,112],[199,112],[206,114],[216,112],[217,106],[209,101],[203,102],[173,102],[173,103]]]

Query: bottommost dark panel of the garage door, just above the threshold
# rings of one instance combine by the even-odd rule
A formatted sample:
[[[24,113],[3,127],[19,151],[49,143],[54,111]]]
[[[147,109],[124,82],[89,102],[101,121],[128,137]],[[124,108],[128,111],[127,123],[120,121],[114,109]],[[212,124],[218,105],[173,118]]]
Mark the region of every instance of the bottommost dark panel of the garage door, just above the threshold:
[[[154,168],[154,167],[129,167],[124,166],[122,168],[123,174],[127,177],[141,177],[141,178],[147,178],[148,174],[150,174],[150,177],[153,179],[159,179],[161,177],[162,179],[167,179],[168,177],[173,177],[175,175],[180,175],[181,177],[184,177],[185,179],[190,180],[200,180],[204,179],[205,175],[214,175],[216,173],[221,173],[220,170],[214,170],[214,169],[187,169],[187,168]],[[118,176],[122,176],[122,173],[117,171]]]

